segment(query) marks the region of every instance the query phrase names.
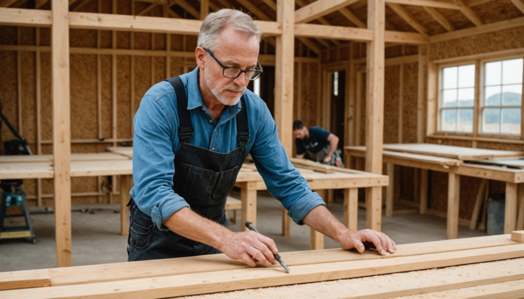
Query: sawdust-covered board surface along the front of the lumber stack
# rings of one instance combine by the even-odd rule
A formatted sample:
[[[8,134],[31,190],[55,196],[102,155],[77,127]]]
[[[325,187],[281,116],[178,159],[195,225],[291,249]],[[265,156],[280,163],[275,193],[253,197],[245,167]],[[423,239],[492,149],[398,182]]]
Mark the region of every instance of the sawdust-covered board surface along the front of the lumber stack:
[[[524,273],[524,258],[502,260],[486,263],[467,264],[448,268],[411,271],[403,273],[376,275],[363,278],[342,279],[285,285],[277,287],[261,287],[233,292],[222,292],[198,296],[179,297],[185,299],[245,299],[245,298],[339,298],[357,297],[369,294],[396,291],[409,287],[431,287],[449,283],[460,283],[471,280],[497,278],[508,274]],[[508,282],[511,283],[511,282]],[[482,287],[482,286],[481,286]],[[470,288],[468,288],[470,289]],[[409,296],[409,298],[443,298],[449,290],[430,294]],[[444,294],[444,295],[435,295]],[[402,297],[404,298],[404,297]],[[408,297],[406,297],[408,298]]]

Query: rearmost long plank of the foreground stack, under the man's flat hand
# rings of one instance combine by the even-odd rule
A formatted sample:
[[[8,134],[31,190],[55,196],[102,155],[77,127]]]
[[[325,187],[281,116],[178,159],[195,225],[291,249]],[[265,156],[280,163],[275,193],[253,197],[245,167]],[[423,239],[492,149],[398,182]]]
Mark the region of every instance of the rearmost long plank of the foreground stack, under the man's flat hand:
[[[517,242],[511,240],[510,235],[498,235],[398,245],[395,253],[387,256],[380,256],[372,250],[366,250],[361,254],[343,249],[281,252],[280,255],[282,259],[286,261],[287,265],[294,266],[341,261],[388,259],[517,244]],[[176,267],[174,267],[174,265],[176,265]],[[271,267],[278,268],[279,265]],[[244,268],[249,268],[249,266],[242,261],[231,260],[225,256],[225,254],[213,254],[213,256],[133,262],[133,271],[129,271],[128,262],[122,262],[85,265],[72,268],[55,268],[49,269],[49,272],[51,275],[51,285],[60,286]]]

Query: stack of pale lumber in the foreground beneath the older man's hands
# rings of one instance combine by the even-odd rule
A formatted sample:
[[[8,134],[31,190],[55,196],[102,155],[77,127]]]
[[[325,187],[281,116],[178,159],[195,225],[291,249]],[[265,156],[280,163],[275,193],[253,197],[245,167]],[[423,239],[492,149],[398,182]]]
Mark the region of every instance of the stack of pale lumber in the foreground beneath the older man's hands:
[[[394,254],[387,256],[380,256],[374,250],[358,253],[342,249],[280,253],[290,274],[280,265],[249,268],[224,254],[5,272],[0,273],[0,290],[4,290],[0,291],[0,298],[165,298],[517,259],[524,257],[523,234],[524,231],[518,231],[512,235],[399,245]],[[524,279],[522,267],[506,270],[497,272],[496,277],[492,274],[490,279],[472,276],[461,282],[444,280],[436,290],[489,287],[494,283]],[[403,294],[399,291],[402,288],[407,290],[406,294],[435,292],[434,286],[404,282],[395,290],[370,289],[364,297],[398,296]],[[315,289],[311,291],[310,297],[316,296]],[[499,292],[504,293],[504,290]]]

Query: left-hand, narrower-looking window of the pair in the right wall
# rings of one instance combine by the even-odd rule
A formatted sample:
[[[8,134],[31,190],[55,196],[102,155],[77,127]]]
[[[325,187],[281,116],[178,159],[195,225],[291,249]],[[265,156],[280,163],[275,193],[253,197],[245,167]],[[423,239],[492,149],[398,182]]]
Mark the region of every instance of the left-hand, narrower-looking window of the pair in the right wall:
[[[440,95],[441,131],[473,132],[475,64],[444,68]]]

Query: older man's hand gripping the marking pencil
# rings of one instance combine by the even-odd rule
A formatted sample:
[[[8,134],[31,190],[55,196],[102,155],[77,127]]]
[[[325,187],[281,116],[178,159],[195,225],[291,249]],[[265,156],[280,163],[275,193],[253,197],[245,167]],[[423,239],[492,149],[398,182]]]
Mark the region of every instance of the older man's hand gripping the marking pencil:
[[[222,239],[221,248],[217,249],[234,260],[244,261],[251,267],[256,267],[255,259],[266,267],[277,263],[274,256],[278,253],[275,241],[255,231],[230,231]]]

